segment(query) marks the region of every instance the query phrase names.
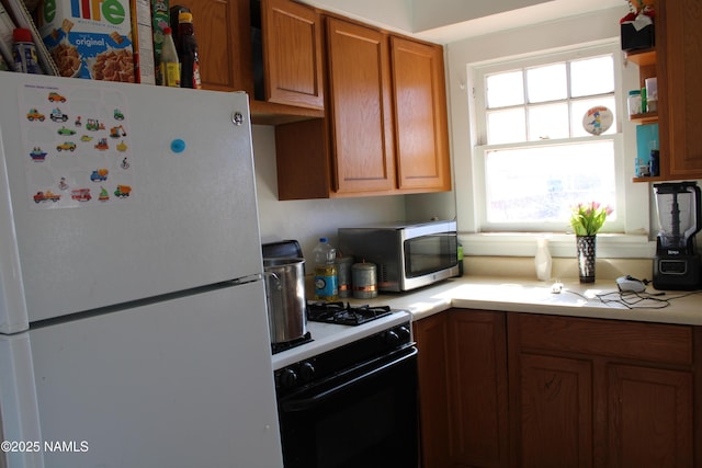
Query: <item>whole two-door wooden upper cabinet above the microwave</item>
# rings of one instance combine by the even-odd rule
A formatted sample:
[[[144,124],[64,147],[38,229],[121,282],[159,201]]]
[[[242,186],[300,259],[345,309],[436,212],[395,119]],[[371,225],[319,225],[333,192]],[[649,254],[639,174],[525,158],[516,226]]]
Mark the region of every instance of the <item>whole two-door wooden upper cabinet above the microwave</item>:
[[[450,190],[443,48],[325,23],[326,116],[275,128],[279,198]]]

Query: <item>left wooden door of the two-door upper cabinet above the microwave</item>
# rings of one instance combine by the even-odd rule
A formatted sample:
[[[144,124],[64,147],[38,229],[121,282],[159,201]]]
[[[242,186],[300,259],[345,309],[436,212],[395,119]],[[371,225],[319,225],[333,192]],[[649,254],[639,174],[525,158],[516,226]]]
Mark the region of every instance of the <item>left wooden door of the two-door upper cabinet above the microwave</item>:
[[[387,36],[327,19],[328,92],[338,194],[395,187],[393,107]]]

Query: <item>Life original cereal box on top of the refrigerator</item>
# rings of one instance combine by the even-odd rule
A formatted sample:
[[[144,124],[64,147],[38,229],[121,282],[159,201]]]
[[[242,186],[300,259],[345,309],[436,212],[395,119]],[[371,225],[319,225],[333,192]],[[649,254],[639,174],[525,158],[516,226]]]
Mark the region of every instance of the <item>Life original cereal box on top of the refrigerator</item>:
[[[63,77],[134,82],[129,0],[44,0],[38,16]]]

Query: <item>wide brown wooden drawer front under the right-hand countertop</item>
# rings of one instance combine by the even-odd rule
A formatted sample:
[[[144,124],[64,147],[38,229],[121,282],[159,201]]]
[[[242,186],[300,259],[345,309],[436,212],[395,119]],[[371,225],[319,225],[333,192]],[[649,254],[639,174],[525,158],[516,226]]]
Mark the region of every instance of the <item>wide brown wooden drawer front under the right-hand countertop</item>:
[[[692,364],[692,328],[688,326],[519,313],[512,316],[510,327],[516,327],[522,351]]]

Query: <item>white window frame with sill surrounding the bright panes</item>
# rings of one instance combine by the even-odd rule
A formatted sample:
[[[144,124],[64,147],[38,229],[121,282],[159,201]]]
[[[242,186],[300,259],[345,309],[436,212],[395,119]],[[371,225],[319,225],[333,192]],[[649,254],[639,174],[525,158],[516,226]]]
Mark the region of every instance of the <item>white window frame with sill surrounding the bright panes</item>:
[[[551,239],[552,254],[555,256],[574,256],[573,233],[566,226],[563,229],[550,229],[546,232],[524,231],[516,227],[514,230],[506,230],[505,227],[489,226],[486,221],[485,213],[485,150],[497,148],[519,147],[514,145],[482,145],[486,141],[486,119],[485,119],[485,93],[484,84],[476,87],[476,83],[484,82],[487,70],[495,72],[499,67],[505,70],[514,69],[517,65],[537,66],[559,60],[573,60],[590,56],[613,54],[614,57],[614,83],[616,96],[616,133],[607,136],[614,142],[615,151],[615,179],[616,179],[616,204],[618,222],[608,226],[607,233],[602,231],[598,241],[598,255],[604,258],[652,258],[655,253],[655,242],[649,240],[648,229],[631,228],[630,226],[649,226],[649,199],[642,199],[641,185],[634,187],[632,182],[633,161],[635,151],[635,125],[626,121],[626,101],[624,89],[635,88],[638,84],[637,70],[625,69],[625,60],[620,49],[618,41],[607,41],[595,46],[581,46],[559,49],[554,53],[532,54],[530,57],[520,57],[511,60],[495,60],[492,62],[468,64],[466,65],[468,85],[472,92],[468,93],[469,121],[472,145],[471,161],[468,164],[456,163],[456,170],[464,168],[471,172],[469,182],[461,181],[457,174],[456,196],[457,215],[463,219],[461,240],[467,254],[474,255],[532,255],[535,249],[534,239],[546,235]],[[635,67],[632,67],[635,68]],[[624,76],[626,75],[626,76]],[[480,91],[478,91],[480,89]],[[600,137],[581,137],[577,139],[597,140]],[[634,141],[632,149],[632,140]],[[537,142],[536,142],[537,144]],[[530,142],[525,144],[530,145]],[[631,165],[631,170],[630,170]],[[462,196],[464,194],[464,196]],[[466,199],[465,194],[471,197]],[[645,203],[642,203],[645,202]],[[642,209],[644,208],[645,209]],[[567,222],[567,220],[566,220]],[[467,227],[467,231],[466,228]]]

